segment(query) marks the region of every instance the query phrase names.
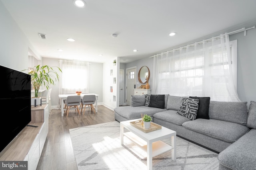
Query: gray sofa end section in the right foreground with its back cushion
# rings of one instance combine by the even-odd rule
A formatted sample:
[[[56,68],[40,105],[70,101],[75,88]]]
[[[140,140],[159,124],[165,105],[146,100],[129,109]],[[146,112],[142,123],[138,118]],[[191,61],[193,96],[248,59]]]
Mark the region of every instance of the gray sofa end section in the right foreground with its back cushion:
[[[256,169],[256,102],[251,101],[246,126],[250,131],[218,154],[219,170]]]

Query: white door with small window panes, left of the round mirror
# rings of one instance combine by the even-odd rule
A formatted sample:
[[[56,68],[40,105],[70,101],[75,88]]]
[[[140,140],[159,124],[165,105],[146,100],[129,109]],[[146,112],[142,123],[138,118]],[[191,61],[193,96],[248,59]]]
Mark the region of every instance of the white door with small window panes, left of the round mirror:
[[[126,105],[131,106],[131,98],[134,94],[134,87],[136,86],[136,68],[128,69],[126,73]]]

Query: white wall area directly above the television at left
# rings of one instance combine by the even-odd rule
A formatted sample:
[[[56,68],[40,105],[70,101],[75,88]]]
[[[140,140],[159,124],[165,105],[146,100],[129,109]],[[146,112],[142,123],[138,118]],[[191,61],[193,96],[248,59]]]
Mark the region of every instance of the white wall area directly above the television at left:
[[[0,33],[0,65],[18,71],[28,68],[30,42],[1,1]]]

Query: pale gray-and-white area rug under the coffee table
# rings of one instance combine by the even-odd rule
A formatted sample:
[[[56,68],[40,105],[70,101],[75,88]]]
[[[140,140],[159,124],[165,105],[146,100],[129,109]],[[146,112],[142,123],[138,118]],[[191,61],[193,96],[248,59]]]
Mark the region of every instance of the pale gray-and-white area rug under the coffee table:
[[[70,129],[78,170],[146,170],[146,152],[128,138],[120,144],[120,123],[112,121]],[[124,131],[126,131],[124,129]],[[170,139],[164,140],[171,143]],[[176,161],[171,151],[153,157],[153,170],[218,170],[216,153],[176,138]]]

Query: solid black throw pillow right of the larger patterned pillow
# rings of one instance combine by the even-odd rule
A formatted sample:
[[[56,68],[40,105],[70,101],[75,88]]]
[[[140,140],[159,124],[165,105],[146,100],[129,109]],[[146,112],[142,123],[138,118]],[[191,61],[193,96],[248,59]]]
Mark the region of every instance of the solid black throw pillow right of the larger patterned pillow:
[[[196,97],[189,96],[191,99],[199,99],[198,111],[196,115],[196,119],[210,119],[209,118],[209,105],[210,105],[210,97]]]

